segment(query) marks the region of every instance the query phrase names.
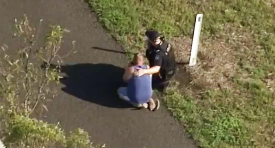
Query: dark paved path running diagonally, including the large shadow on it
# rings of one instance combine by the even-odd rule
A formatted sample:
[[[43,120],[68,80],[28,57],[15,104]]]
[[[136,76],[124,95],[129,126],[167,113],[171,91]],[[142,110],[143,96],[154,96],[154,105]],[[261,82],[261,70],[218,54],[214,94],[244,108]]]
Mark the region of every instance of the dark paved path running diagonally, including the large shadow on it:
[[[24,13],[34,27],[44,19],[44,32],[53,23],[71,31],[64,36],[61,55],[76,41],[77,53],[70,55],[65,60],[68,65],[62,68],[68,78],[56,88],[59,95],[47,103],[49,111],[38,111],[36,117],[49,123],[60,121],[66,130],[81,127],[89,132],[91,141],[107,147],[196,147],[164,106],[156,112],[133,110],[118,100],[116,89],[127,58],[119,53],[121,46],[97,22],[87,3],[0,0],[0,46],[16,48],[11,40],[13,20]]]

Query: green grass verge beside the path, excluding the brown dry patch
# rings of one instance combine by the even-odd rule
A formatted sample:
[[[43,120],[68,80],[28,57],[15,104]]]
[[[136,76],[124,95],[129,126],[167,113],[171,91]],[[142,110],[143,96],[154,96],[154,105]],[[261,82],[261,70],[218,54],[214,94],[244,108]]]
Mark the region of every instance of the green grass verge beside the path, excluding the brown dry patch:
[[[222,40],[238,59],[231,89],[190,96],[177,84],[164,97],[201,147],[275,147],[274,0],[88,0],[99,21],[129,52],[144,51],[144,32],[192,38],[203,13],[201,41]],[[211,49],[210,49],[211,50]],[[273,83],[272,83],[273,82]]]

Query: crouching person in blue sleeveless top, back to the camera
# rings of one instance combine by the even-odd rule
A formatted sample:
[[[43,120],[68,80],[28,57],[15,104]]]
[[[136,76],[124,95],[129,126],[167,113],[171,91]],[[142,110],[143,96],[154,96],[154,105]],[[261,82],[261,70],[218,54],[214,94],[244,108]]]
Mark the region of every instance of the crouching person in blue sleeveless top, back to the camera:
[[[125,68],[123,81],[127,83],[127,87],[118,89],[119,97],[135,107],[149,107],[150,110],[158,110],[160,101],[152,99],[152,75],[144,74],[140,77],[133,75],[135,71],[148,69],[149,66],[144,65],[144,58],[141,54],[135,54],[132,64]]]

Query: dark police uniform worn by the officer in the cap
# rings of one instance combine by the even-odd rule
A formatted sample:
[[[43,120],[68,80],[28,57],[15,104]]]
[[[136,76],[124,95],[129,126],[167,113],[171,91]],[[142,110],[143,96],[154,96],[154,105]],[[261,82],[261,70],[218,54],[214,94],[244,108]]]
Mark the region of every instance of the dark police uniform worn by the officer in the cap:
[[[160,87],[164,89],[166,82],[172,78],[175,73],[175,57],[171,44],[162,40],[163,43],[153,46],[150,42],[146,50],[146,58],[150,67],[160,66],[160,71],[153,74],[153,88]]]

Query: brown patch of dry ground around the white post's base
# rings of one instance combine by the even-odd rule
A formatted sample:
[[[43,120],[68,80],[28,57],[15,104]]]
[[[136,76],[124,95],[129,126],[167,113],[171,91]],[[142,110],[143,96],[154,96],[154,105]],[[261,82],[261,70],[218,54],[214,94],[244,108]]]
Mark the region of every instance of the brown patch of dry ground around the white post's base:
[[[192,40],[187,37],[171,39],[177,62],[189,63],[191,43]],[[234,56],[234,48],[227,46],[222,40],[211,40],[201,42],[199,50],[195,66],[190,67],[188,64],[178,66],[175,78],[181,86],[192,90],[193,94],[209,88],[232,88],[233,83],[230,78],[235,74],[238,62]],[[182,73],[188,76],[182,76]]]

